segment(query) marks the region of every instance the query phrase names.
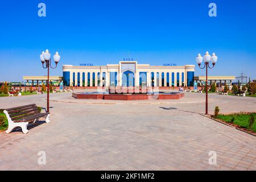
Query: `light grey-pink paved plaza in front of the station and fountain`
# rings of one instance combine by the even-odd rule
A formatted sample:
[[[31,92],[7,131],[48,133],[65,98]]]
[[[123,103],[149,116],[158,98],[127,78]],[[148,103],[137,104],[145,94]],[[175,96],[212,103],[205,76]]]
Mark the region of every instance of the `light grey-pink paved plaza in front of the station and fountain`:
[[[46,94],[2,97],[0,109],[46,106]],[[204,114],[205,94],[180,100],[76,100],[50,94],[51,123],[0,133],[1,170],[255,170],[256,137]],[[209,113],[255,111],[256,98],[209,94]],[[172,109],[170,109],[172,108]],[[38,152],[46,152],[46,165]],[[209,151],[217,152],[210,165]]]

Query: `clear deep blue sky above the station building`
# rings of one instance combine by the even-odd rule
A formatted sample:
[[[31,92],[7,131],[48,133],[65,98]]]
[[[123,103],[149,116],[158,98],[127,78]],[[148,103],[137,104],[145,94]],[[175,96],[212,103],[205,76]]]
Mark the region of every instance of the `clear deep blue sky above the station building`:
[[[38,4],[46,3],[46,17]],[[217,17],[208,15],[210,2]],[[197,53],[216,52],[212,76],[256,78],[256,1],[1,1],[0,81],[46,75],[39,54],[59,51],[63,64],[117,64],[123,57],[138,63],[195,64]],[[196,75],[204,75],[196,66]]]

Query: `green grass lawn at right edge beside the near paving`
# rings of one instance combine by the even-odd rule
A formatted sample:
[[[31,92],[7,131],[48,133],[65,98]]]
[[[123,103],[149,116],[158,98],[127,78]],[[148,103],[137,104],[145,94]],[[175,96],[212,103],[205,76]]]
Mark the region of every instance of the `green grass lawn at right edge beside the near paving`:
[[[256,113],[252,113],[254,115],[254,123],[252,128],[249,128],[249,119],[251,117],[251,114],[246,113],[238,113],[238,114],[219,114],[218,119],[221,119],[222,121],[225,121],[227,123],[232,123],[232,119],[234,118],[234,124],[238,125],[242,128],[245,128],[247,130],[251,130],[256,133]]]

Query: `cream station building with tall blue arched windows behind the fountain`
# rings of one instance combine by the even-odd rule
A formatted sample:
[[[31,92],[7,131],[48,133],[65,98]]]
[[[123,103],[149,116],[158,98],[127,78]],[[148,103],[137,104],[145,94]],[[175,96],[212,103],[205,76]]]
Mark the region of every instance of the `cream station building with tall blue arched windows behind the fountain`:
[[[193,86],[195,65],[154,66],[119,61],[102,66],[63,65],[65,86]]]

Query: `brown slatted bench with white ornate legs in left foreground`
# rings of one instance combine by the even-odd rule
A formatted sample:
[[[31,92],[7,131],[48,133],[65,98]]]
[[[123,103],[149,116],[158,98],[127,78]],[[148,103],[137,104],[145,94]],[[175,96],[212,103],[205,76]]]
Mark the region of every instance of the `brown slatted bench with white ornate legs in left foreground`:
[[[3,111],[8,119],[8,129],[6,133],[10,133],[16,127],[21,127],[24,134],[28,133],[28,123],[35,123],[39,118],[45,118],[49,123],[49,113],[40,113],[35,104],[13,107]]]

